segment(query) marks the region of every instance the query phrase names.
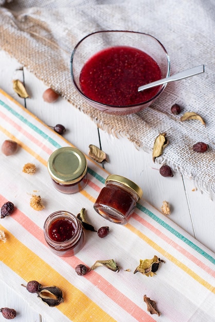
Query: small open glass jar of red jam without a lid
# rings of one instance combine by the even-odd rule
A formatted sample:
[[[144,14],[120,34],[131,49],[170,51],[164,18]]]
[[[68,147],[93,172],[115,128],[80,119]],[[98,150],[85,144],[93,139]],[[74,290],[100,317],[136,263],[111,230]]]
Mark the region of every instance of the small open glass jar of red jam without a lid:
[[[68,211],[51,213],[44,223],[43,231],[49,248],[58,256],[73,256],[80,251],[85,242],[80,221]]]

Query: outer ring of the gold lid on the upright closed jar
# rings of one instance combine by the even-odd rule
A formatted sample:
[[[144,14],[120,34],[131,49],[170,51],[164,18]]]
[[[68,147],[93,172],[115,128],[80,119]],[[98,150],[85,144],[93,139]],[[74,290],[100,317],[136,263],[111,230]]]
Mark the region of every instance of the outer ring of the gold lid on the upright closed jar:
[[[54,167],[53,167],[53,162],[55,160],[55,158],[61,154],[61,153],[65,153],[65,152],[76,152],[81,161],[83,162],[83,171],[81,171],[81,174],[78,175],[77,177],[73,178],[71,180],[71,175],[69,177],[60,177],[60,175],[58,176],[58,173],[55,171]],[[48,169],[48,172],[49,172],[49,175],[50,177],[56,181],[57,183],[59,184],[62,184],[62,185],[71,185],[71,184],[76,184],[78,183],[80,180],[82,180],[82,178],[85,176],[85,174],[87,173],[87,162],[86,162],[86,157],[84,155],[84,153],[82,151],[80,151],[79,149],[75,148],[75,147],[61,147],[55,151],[53,151],[51,153],[51,155],[49,156],[48,158],[48,162],[47,162],[47,169]]]

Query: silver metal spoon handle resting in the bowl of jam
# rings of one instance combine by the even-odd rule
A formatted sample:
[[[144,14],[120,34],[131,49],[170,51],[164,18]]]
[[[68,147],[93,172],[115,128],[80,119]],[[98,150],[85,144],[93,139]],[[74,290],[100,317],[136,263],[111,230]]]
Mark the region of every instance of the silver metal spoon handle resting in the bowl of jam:
[[[198,75],[201,73],[204,73],[205,71],[205,65],[200,65],[200,66],[196,66],[184,71],[181,71],[180,73],[177,73],[175,75],[172,75],[170,77],[167,78],[163,78],[163,79],[159,79],[158,81],[146,84],[146,85],[142,85],[140,87],[138,87],[138,92],[144,91],[147,88],[151,88],[151,87],[155,87],[158,85],[162,85],[162,84],[166,84],[169,82],[174,82],[176,80],[180,80],[180,79],[184,79],[184,78],[188,78],[194,75]]]

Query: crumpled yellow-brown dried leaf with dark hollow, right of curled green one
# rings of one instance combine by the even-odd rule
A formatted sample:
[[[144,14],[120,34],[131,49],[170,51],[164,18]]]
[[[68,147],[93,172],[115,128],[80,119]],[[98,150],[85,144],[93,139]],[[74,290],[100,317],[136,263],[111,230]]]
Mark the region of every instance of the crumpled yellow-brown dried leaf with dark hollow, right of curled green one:
[[[156,255],[152,259],[140,259],[139,265],[137,266],[134,274],[140,272],[146,276],[153,276],[157,272],[159,263],[164,263],[164,260],[158,258]]]

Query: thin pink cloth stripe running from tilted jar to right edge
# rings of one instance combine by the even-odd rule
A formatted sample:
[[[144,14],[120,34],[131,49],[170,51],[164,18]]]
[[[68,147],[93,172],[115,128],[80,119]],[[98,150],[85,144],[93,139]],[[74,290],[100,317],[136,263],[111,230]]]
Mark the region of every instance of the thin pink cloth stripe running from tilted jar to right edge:
[[[153,231],[154,234],[156,234],[159,238],[161,238],[164,241],[166,241],[169,245],[173,246],[178,252],[180,252],[181,254],[186,256],[187,258],[189,258],[193,263],[195,263],[196,265],[201,267],[201,269],[203,269],[205,272],[207,272],[208,274],[210,274],[212,277],[215,278],[215,271],[211,270],[210,267],[208,267],[201,260],[199,260],[198,258],[193,256],[191,253],[186,251],[186,249],[184,249],[182,246],[178,245],[175,241],[173,241],[168,236],[166,236],[162,231],[160,231],[159,229],[155,228],[152,224],[147,222],[145,219],[141,218],[137,213],[133,214],[133,218],[136,221],[138,221],[139,223],[141,223],[143,226],[145,226],[148,229],[150,229],[151,231]]]

